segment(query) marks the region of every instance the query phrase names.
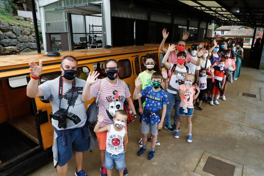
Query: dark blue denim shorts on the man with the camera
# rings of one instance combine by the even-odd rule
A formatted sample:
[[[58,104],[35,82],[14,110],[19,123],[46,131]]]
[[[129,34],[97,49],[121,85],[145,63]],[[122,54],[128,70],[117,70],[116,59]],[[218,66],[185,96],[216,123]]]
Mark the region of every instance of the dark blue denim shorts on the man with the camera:
[[[72,141],[69,145],[62,144],[62,136],[58,136],[58,154],[59,154],[59,166],[64,166],[72,158],[72,148],[74,151],[86,151],[89,149],[89,137],[84,138],[82,129],[72,130]]]

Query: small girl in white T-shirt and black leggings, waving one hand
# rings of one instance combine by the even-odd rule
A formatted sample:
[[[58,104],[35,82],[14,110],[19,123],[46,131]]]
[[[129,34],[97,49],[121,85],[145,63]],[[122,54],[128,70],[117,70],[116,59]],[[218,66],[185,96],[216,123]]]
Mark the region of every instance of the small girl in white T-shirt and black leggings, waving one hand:
[[[204,93],[205,93],[205,90],[207,88],[206,79],[214,77],[214,68],[211,68],[211,73],[212,73],[212,75],[207,75],[205,68],[201,68],[200,73],[199,73],[199,81],[198,81],[197,86],[200,89],[200,93],[199,93],[199,96],[198,96],[199,102],[198,102],[197,109],[200,110],[200,111],[202,111],[202,107],[201,107],[202,99],[204,98]]]

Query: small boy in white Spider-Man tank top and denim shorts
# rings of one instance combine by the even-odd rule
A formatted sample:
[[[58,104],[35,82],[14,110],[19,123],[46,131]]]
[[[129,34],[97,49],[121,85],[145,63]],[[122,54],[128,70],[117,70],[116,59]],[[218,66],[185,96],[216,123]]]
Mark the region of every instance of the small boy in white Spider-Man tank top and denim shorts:
[[[128,132],[124,126],[128,120],[128,114],[124,110],[118,110],[115,112],[113,118],[114,124],[105,125],[100,128],[103,122],[102,114],[98,114],[98,122],[95,125],[94,132],[107,131],[106,134],[106,151],[105,151],[105,167],[107,176],[112,175],[112,169],[114,163],[116,169],[119,171],[119,175],[123,176],[125,165],[125,153],[128,140]]]

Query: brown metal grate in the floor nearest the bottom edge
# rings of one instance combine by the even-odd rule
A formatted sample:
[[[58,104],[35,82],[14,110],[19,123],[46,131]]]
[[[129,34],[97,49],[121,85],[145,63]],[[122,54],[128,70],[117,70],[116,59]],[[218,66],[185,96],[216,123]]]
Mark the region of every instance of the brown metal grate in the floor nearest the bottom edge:
[[[203,171],[215,176],[233,176],[235,166],[209,156]]]

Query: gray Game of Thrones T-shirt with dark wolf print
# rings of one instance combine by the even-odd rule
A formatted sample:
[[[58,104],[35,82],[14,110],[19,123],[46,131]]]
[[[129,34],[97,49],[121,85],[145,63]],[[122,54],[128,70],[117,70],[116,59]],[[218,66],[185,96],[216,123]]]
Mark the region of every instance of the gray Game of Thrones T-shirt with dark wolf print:
[[[41,100],[49,99],[53,113],[59,110],[59,103],[60,103],[60,100],[58,98],[59,78],[60,77],[46,81],[43,84],[39,85],[39,88],[41,89],[44,95],[44,97],[39,97],[39,98]],[[72,98],[72,102],[70,103],[70,99],[72,96],[72,90],[71,90],[72,82],[67,83],[63,81],[63,93],[62,93],[60,108],[67,109],[70,103],[68,112],[77,115],[81,119],[81,122],[75,125],[73,121],[66,119],[66,123],[67,123],[66,129],[82,127],[87,119],[85,105],[84,102],[82,101],[82,92],[85,87],[86,81],[79,78],[75,78],[75,84],[76,87],[75,89],[73,88],[73,98]],[[54,120],[53,118],[51,119],[51,123],[57,130],[65,130],[64,128],[59,129],[58,121]]]

